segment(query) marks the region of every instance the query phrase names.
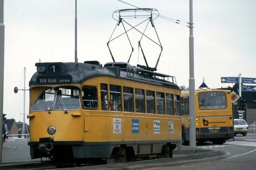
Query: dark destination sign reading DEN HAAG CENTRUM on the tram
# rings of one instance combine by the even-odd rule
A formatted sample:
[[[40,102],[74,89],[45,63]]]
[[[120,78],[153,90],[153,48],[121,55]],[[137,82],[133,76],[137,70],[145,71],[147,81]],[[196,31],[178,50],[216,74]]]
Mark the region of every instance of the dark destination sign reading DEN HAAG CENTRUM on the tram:
[[[38,77],[39,85],[69,84],[69,83],[71,83],[70,76]]]

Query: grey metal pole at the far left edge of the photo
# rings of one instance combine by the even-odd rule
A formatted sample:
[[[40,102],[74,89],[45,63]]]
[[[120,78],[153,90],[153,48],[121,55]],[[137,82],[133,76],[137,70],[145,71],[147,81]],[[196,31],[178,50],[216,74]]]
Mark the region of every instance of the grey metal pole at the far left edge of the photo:
[[[3,0],[0,0],[0,119],[3,120],[3,71],[4,71],[4,24]],[[2,142],[2,138],[0,138]],[[2,148],[0,147],[0,164],[2,164]]]

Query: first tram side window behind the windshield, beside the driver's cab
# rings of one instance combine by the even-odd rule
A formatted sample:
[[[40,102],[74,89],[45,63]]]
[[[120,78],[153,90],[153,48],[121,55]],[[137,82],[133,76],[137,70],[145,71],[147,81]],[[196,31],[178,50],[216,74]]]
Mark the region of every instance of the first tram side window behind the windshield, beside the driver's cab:
[[[98,108],[98,96],[96,87],[83,87],[82,88],[83,108],[97,109]]]

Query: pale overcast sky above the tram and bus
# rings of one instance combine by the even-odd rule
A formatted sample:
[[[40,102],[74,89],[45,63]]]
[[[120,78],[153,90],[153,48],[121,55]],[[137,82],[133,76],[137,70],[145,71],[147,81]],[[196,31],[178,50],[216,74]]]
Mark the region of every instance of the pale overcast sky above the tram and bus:
[[[161,16],[180,20],[176,24],[154,20],[163,52],[157,72],[176,77],[177,85],[189,86],[189,0],[124,0],[140,8],[155,8]],[[135,8],[118,0],[77,0],[78,61],[111,62],[107,42],[116,26],[114,11]],[[256,77],[256,1],[194,0],[193,35],[195,87],[203,79],[210,88],[233,86],[221,77]],[[23,91],[36,71],[36,62],[74,62],[75,0],[5,0],[5,65],[3,113],[23,122]],[[149,27],[148,27],[149,28]],[[148,29],[147,28],[147,29]],[[152,27],[150,28],[152,29]],[[117,31],[123,30],[121,26]],[[146,32],[146,33],[150,33]],[[132,32],[131,32],[132,34]],[[148,34],[150,37],[151,34]],[[130,64],[142,61],[135,38]],[[144,39],[143,39],[144,40]],[[122,44],[126,43],[126,44]],[[143,46],[144,45],[144,46]],[[154,67],[160,53],[155,45],[143,44],[148,64]],[[125,37],[110,43],[116,61],[128,61],[131,47]],[[138,59],[139,58],[139,59]],[[145,65],[145,63],[139,63]],[[26,92],[26,111],[29,112]],[[28,119],[26,119],[26,123]]]

